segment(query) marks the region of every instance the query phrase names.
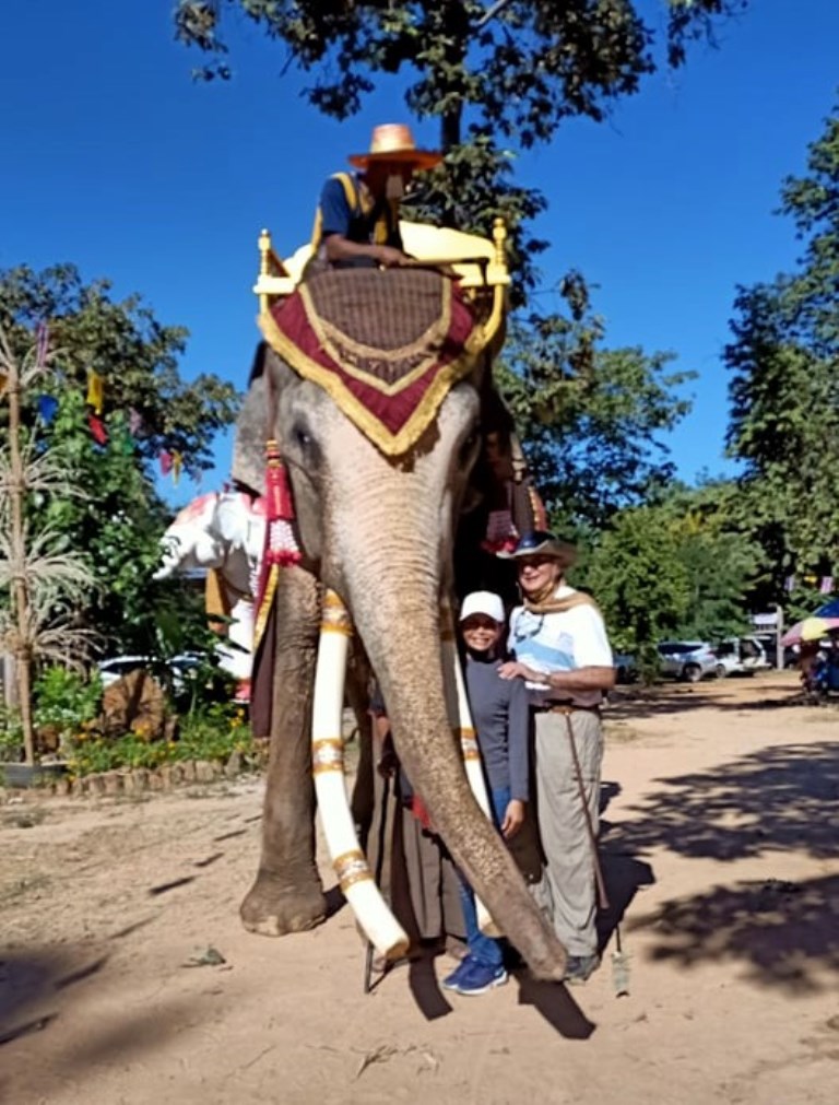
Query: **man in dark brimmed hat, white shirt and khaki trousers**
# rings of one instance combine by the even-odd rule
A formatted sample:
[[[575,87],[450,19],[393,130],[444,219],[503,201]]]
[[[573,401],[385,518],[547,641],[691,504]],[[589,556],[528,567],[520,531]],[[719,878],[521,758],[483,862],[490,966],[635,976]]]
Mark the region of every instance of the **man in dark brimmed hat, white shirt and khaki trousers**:
[[[599,965],[594,856],[603,758],[599,706],[614,686],[615,670],[599,610],[565,583],[574,551],[567,541],[539,530],[506,554],[516,562],[524,602],[510,618],[514,659],[499,674],[524,680],[530,693],[545,856],[542,904],[569,950],[566,980],[584,982]]]

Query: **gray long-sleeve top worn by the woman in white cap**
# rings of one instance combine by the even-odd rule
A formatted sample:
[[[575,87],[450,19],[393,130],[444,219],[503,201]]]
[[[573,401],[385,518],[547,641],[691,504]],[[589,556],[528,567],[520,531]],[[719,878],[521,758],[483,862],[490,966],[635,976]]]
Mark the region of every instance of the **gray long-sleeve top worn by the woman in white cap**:
[[[500,660],[466,656],[466,686],[487,782],[528,800],[528,691],[523,680],[502,680]]]

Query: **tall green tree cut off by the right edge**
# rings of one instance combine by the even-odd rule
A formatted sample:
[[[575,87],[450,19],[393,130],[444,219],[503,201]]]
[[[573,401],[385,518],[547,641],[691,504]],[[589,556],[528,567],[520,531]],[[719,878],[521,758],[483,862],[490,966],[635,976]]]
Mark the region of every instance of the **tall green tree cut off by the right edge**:
[[[784,579],[839,573],[839,118],[789,178],[782,212],[805,251],[797,271],[741,288],[725,360],[728,446],[743,464],[741,511],[771,565],[763,601]]]

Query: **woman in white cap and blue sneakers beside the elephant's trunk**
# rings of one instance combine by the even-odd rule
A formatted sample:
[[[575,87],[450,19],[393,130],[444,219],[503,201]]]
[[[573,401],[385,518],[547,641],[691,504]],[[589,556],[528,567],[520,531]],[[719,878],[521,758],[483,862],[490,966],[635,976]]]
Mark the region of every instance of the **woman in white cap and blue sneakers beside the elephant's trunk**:
[[[524,821],[528,800],[528,694],[521,681],[502,680],[498,646],[505,628],[503,603],[491,591],[467,594],[460,610],[466,646],[466,686],[497,828],[511,840]],[[478,928],[475,895],[461,882],[468,953],[443,980],[447,990],[486,993],[507,981],[503,946]]]

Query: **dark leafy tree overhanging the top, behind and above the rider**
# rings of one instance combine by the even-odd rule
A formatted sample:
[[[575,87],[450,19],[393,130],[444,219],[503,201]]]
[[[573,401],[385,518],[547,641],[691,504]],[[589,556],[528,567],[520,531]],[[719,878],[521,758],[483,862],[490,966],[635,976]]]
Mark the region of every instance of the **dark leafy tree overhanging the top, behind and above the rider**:
[[[691,39],[747,0],[661,0],[662,53],[680,65]],[[522,223],[544,198],[510,179],[517,152],[552,139],[573,116],[601,120],[609,103],[656,70],[654,32],[630,0],[178,0],[177,38],[212,61],[197,76],[231,76],[227,34],[245,14],[314,77],[304,95],[342,119],[381,78],[403,77],[407,110],[439,120],[444,165],[427,175],[414,211],[488,233],[502,214],[521,285],[544,243]],[[655,18],[655,12],[652,13]]]

